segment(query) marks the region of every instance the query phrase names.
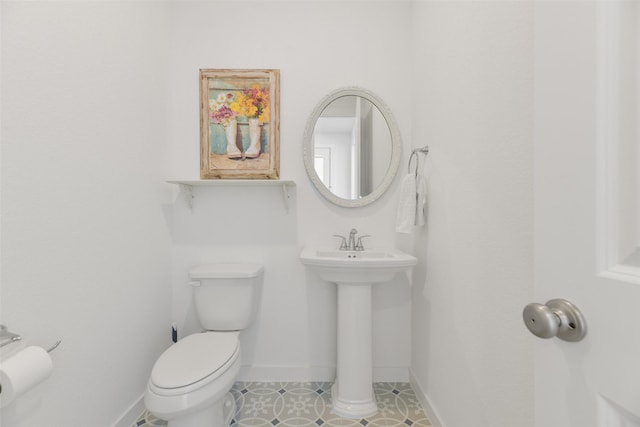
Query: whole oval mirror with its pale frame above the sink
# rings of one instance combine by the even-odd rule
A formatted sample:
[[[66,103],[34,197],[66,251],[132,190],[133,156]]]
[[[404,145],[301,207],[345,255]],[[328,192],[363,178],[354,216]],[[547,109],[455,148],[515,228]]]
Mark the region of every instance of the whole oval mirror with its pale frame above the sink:
[[[331,92],[315,108],[304,131],[304,165],[327,200],[365,206],[389,188],[400,164],[402,142],[387,105],[368,90]]]

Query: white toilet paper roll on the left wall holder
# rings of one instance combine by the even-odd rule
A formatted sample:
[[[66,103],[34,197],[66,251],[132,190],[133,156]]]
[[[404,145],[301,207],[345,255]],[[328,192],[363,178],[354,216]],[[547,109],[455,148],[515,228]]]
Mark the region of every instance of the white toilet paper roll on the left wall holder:
[[[0,362],[0,408],[49,378],[53,362],[42,347],[30,346]]]

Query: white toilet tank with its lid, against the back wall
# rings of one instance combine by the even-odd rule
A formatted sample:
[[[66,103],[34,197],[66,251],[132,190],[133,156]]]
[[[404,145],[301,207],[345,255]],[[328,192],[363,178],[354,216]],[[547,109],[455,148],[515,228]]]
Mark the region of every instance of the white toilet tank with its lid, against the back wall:
[[[246,329],[258,311],[263,266],[203,264],[189,271],[198,320],[210,331]]]

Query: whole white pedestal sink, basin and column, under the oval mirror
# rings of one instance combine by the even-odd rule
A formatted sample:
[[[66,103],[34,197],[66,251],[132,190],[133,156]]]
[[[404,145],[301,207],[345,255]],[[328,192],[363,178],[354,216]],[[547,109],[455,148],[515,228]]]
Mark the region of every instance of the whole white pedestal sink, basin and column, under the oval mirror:
[[[365,418],[378,412],[373,394],[371,285],[387,282],[418,260],[397,249],[343,251],[307,247],[300,260],[338,285],[338,367],[333,412]]]

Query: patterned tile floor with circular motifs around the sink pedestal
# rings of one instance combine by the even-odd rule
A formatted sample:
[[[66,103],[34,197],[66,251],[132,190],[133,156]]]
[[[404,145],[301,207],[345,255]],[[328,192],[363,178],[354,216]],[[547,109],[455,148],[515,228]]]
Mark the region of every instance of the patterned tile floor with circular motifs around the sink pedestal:
[[[374,383],[378,413],[361,420],[331,413],[333,383],[237,382],[231,427],[427,427],[431,422],[409,383]],[[132,427],[166,426],[145,411]]]

